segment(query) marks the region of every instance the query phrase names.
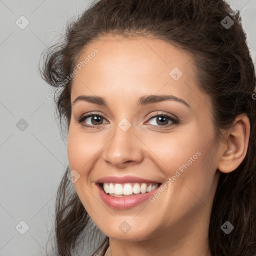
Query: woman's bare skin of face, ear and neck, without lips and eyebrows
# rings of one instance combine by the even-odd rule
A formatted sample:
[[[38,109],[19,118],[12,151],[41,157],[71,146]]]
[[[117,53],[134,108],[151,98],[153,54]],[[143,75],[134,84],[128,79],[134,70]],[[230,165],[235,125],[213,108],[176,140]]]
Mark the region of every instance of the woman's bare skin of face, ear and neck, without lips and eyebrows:
[[[100,37],[86,45],[77,63],[94,48],[99,50],[74,76],[71,102],[79,95],[102,96],[106,106],[76,101],[71,106],[68,130],[68,161],[80,177],[73,183],[86,211],[109,237],[105,255],[210,256],[208,225],[220,171],[230,172],[246,154],[249,120],[239,115],[233,127],[217,140],[209,95],[198,87],[192,55],[160,39],[136,36]],[[182,76],[169,72],[178,67]],[[190,107],[166,100],[144,106],[136,101],[149,94],[174,95]],[[102,124],[80,116],[93,111]],[[176,116],[160,124],[159,113]],[[131,127],[118,123],[126,118]],[[166,124],[167,123],[167,124]],[[155,127],[159,127],[157,129]],[[100,198],[95,181],[103,176],[133,175],[166,183],[196,152],[201,154],[155,199],[118,210]],[[126,221],[130,230],[118,226]]]

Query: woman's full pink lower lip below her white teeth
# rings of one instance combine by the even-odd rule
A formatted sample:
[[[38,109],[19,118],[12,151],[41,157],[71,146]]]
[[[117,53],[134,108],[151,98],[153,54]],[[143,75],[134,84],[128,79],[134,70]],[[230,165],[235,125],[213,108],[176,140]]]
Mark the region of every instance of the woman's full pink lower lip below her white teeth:
[[[97,183],[96,187],[98,188],[101,199],[108,206],[115,209],[128,209],[148,199],[151,195],[153,195],[156,192],[156,190],[159,189],[160,186],[156,187],[150,192],[139,193],[139,194],[125,196],[125,197],[116,197],[116,196],[106,194],[103,188],[101,187],[101,184]]]

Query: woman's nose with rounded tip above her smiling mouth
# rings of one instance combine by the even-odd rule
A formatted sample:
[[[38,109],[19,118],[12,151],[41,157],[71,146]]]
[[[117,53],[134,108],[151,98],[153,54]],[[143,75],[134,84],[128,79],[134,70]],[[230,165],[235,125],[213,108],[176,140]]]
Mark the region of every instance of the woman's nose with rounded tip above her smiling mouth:
[[[114,135],[105,145],[103,159],[117,168],[124,168],[142,161],[143,146],[132,126],[126,131],[117,126]]]

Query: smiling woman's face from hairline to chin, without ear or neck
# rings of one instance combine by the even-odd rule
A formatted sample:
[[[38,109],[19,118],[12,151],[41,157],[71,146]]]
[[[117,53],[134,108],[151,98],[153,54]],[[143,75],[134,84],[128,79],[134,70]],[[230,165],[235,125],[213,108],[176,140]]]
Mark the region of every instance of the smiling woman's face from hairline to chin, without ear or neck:
[[[218,146],[192,56],[159,39],[112,36],[87,45],[77,64],[86,57],[73,78],[67,151],[92,220],[108,237],[130,241],[207,230]],[[100,183],[133,195],[108,195]]]

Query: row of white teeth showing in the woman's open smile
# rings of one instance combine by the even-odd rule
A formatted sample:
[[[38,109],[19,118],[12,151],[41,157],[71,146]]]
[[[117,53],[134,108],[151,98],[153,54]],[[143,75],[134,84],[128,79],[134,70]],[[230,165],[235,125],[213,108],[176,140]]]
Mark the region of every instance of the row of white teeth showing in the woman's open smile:
[[[150,192],[158,187],[158,183],[103,183],[105,193],[121,196]]]

